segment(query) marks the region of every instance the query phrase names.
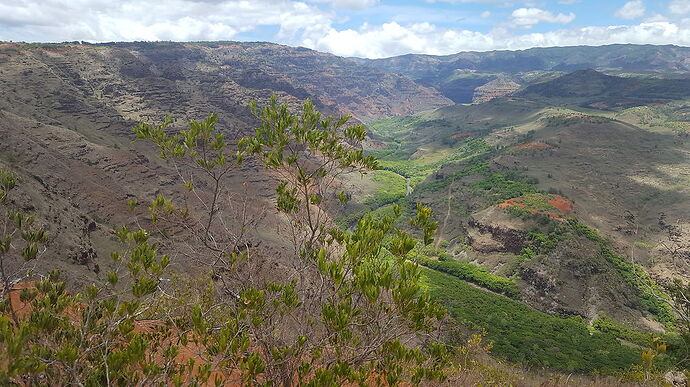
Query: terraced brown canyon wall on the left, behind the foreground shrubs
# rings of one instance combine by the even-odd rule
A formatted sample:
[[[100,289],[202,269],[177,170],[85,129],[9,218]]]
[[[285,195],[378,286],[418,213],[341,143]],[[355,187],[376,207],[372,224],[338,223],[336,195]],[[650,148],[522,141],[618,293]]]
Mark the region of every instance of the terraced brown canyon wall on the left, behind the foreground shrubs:
[[[132,142],[136,122],[172,113],[183,127],[215,112],[235,140],[256,124],[248,102],[272,93],[360,121],[450,103],[402,76],[274,44],[0,44],[0,168],[22,179],[15,204],[49,225],[37,269],[92,280],[120,248],[112,228],[133,221],[128,200],[180,197],[175,171],[152,146]],[[243,182],[252,211],[272,208],[273,183],[260,166],[238,168],[230,190],[244,194]]]

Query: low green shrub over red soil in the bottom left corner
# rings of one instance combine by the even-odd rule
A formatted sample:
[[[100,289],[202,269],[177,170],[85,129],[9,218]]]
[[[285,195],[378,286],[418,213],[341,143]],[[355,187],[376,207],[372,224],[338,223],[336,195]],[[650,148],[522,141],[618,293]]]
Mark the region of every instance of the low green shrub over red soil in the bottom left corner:
[[[148,242],[145,233],[120,232],[132,247],[113,254],[118,272],[110,286],[87,286],[71,295],[53,271],[34,289],[21,293],[28,315],[12,321],[0,317],[0,384],[132,385],[204,383],[198,368],[173,361],[179,334],[172,320],[148,325],[138,320],[160,296],[160,278],[169,260]],[[126,272],[130,292],[113,287]],[[182,320],[177,322],[183,323]]]

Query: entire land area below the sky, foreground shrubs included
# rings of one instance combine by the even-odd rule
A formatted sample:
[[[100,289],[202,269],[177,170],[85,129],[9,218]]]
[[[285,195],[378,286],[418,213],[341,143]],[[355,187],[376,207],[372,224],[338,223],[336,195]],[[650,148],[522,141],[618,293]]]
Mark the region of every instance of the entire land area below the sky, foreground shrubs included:
[[[660,385],[689,56],[0,43],[0,384]]]

